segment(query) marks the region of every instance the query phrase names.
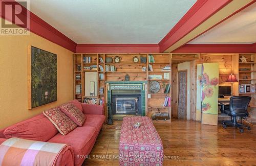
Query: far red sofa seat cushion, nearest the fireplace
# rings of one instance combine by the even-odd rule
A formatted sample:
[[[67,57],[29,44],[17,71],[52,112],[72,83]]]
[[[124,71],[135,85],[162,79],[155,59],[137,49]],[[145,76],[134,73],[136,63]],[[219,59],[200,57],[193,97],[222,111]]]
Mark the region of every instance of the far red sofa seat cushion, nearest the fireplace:
[[[105,121],[104,115],[94,115],[94,114],[86,114],[86,122],[82,126],[91,126],[97,129],[97,132],[100,131],[101,126]]]

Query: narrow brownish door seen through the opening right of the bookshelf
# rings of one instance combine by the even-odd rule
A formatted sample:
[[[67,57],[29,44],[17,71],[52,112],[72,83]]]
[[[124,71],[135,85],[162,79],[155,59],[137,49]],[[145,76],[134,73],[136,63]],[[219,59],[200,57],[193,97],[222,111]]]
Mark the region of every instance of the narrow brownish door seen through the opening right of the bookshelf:
[[[178,119],[187,119],[187,70],[178,71]]]

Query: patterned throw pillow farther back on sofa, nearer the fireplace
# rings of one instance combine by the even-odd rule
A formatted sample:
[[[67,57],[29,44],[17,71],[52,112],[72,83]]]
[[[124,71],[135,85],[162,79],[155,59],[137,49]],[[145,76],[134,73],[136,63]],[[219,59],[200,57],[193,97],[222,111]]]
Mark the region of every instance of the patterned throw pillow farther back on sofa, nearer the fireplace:
[[[82,126],[86,120],[86,116],[73,103],[65,103],[60,107],[61,111],[69,116],[72,121],[74,121],[78,126]]]

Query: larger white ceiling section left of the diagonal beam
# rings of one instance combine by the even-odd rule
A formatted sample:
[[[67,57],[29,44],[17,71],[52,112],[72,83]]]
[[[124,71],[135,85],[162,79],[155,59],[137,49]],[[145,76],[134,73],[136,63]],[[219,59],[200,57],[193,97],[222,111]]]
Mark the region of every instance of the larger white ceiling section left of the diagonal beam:
[[[30,10],[76,43],[158,43],[196,0],[32,0]]]

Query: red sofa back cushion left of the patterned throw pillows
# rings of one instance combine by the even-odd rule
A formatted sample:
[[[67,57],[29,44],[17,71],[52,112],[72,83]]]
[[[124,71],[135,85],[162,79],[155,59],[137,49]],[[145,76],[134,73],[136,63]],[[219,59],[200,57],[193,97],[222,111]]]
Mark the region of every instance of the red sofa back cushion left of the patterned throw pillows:
[[[4,131],[6,138],[18,137],[38,141],[47,141],[57,133],[58,130],[44,114],[19,122]]]

